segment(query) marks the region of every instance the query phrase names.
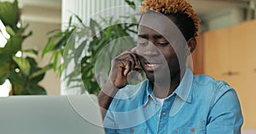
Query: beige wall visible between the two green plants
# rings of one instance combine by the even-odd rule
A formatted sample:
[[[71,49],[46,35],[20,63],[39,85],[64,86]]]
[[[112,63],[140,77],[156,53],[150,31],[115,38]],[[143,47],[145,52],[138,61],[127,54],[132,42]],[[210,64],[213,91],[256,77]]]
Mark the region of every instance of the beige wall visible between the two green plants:
[[[39,53],[37,60],[39,62],[39,66],[48,64],[49,54],[46,55],[43,60],[41,59],[41,53],[48,39],[46,33],[57,28],[61,29],[61,24],[32,20],[23,21],[23,24],[29,24],[27,31],[33,32],[32,36],[29,36],[28,38],[26,38],[25,42],[23,42],[24,48],[34,48],[38,50]],[[53,72],[52,70],[46,73],[46,75],[44,76],[44,80],[40,82],[40,85],[46,89],[48,95],[60,94],[60,78],[58,78],[55,72]]]

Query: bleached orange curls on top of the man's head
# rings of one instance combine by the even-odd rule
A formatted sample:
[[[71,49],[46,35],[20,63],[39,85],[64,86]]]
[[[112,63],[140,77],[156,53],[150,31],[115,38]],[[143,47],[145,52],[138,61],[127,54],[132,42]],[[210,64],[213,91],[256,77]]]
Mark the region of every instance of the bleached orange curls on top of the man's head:
[[[141,7],[141,13],[147,13],[148,10],[153,10],[166,15],[173,14],[176,18],[178,15],[184,14],[185,17],[193,21],[194,35],[191,36],[198,36],[200,20],[195,14],[192,5],[187,3],[186,0],[145,0]]]

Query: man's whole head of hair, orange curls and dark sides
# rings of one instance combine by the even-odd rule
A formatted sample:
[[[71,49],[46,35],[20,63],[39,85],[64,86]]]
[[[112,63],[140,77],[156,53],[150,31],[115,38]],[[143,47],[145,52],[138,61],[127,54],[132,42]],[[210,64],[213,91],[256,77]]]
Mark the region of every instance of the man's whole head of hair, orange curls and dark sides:
[[[174,23],[187,40],[198,36],[200,20],[192,5],[186,0],[145,0],[141,7],[141,13],[148,13],[148,10],[173,15],[176,19]]]

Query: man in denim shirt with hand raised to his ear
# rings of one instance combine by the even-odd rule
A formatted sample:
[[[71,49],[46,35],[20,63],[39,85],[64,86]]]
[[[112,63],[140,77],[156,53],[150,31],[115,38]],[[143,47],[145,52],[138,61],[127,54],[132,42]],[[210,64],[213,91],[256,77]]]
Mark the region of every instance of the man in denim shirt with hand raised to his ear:
[[[107,133],[241,133],[235,90],[186,64],[198,25],[185,0],[145,0],[137,47],[113,59],[98,96]],[[129,85],[138,66],[147,79]]]

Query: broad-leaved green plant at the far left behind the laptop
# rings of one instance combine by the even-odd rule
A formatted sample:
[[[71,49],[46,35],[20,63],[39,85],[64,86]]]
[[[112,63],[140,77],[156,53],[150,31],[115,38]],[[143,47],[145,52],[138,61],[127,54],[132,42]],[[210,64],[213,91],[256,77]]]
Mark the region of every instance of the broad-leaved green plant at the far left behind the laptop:
[[[10,95],[46,94],[38,82],[44,79],[45,71],[51,69],[52,64],[38,67],[35,60],[38,51],[22,48],[23,41],[32,35],[32,31],[26,34],[28,25],[18,26],[20,10],[17,0],[14,3],[0,2],[0,20],[4,25],[0,34],[7,32],[9,35],[5,36],[7,42],[0,47],[0,84],[10,81]]]

